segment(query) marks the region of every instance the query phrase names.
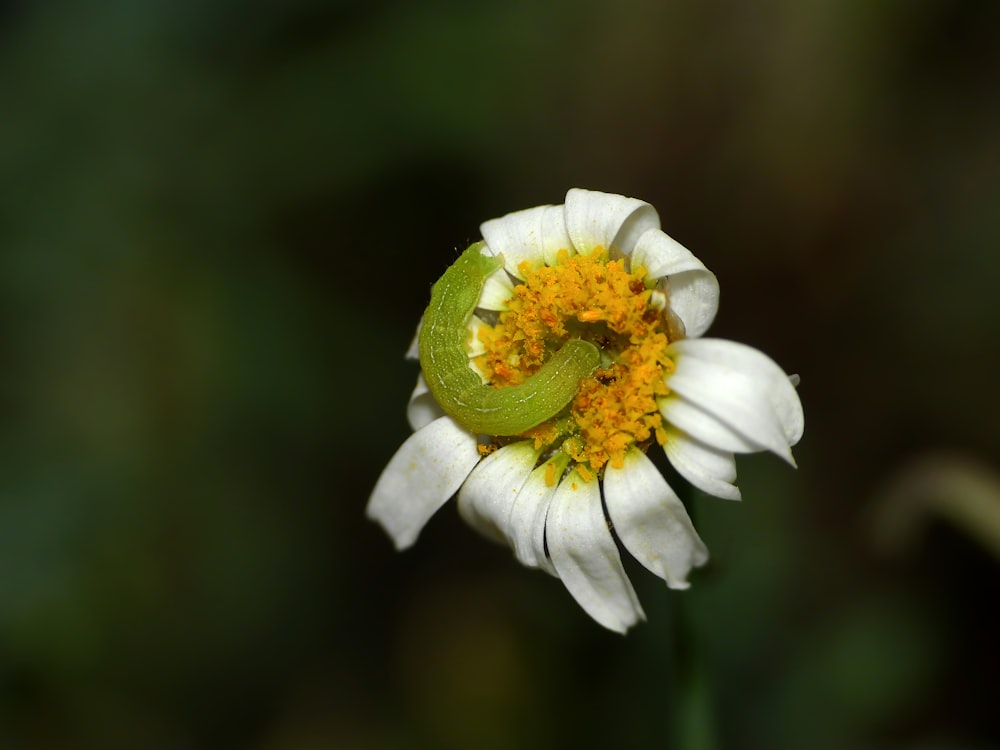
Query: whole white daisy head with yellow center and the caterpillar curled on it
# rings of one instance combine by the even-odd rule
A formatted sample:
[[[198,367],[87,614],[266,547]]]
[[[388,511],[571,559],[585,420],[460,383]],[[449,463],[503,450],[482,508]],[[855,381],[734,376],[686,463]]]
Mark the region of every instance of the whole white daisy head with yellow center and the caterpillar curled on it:
[[[573,189],[564,205],[481,231],[452,267],[479,269],[478,285],[461,280],[476,273],[449,270],[408,353],[422,367],[407,412],[414,434],[382,472],[368,516],[404,549],[458,493],[469,524],[623,633],[645,616],[615,536],[674,589],[708,559],[646,452],[657,446],[695,487],[739,499],[734,454],[768,450],[794,465],[801,403],[761,352],[700,338],[718,282],[648,203]],[[545,370],[572,340],[593,346]],[[552,395],[584,349],[585,376]],[[549,375],[529,380],[539,372]]]

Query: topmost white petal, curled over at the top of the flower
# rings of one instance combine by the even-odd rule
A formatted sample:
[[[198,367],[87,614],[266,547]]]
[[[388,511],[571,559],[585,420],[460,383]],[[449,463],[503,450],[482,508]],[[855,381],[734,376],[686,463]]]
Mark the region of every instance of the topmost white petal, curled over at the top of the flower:
[[[566,194],[566,230],[578,252],[600,246],[628,254],[646,230],[659,226],[656,209],[645,201],[579,188]]]

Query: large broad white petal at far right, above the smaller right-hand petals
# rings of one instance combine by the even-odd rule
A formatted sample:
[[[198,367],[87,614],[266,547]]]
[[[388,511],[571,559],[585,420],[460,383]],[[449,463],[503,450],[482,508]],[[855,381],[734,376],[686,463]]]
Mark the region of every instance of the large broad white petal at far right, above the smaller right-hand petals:
[[[677,362],[671,390],[794,465],[789,447],[802,437],[802,403],[774,360],[722,339],[685,339],[670,350]]]

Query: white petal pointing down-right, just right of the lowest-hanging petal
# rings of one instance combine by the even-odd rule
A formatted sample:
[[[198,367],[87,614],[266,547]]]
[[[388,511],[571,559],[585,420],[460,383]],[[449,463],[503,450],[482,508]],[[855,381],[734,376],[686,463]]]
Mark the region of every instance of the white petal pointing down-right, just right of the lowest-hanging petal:
[[[686,589],[688,572],[705,564],[708,549],[645,453],[632,448],[621,469],[605,470],[604,501],[625,549],[670,588]]]

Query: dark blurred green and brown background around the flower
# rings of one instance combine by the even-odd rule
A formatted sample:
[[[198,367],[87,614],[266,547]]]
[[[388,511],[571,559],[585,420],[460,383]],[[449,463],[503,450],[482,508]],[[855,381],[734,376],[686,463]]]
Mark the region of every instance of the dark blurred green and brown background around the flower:
[[[1000,4],[0,3],[0,747],[1000,747]],[[798,471],[606,633],[363,516],[481,221],[635,195]],[[684,612],[681,612],[683,608]]]

